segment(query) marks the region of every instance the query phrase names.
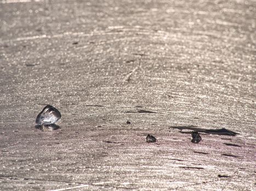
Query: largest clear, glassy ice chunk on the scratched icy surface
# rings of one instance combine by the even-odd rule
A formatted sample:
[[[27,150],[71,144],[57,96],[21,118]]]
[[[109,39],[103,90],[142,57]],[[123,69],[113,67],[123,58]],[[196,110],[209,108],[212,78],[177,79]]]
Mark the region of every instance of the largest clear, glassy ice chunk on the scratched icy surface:
[[[44,109],[37,115],[36,124],[39,126],[50,125],[56,123],[61,117],[58,109],[54,108],[52,105],[47,105]]]

